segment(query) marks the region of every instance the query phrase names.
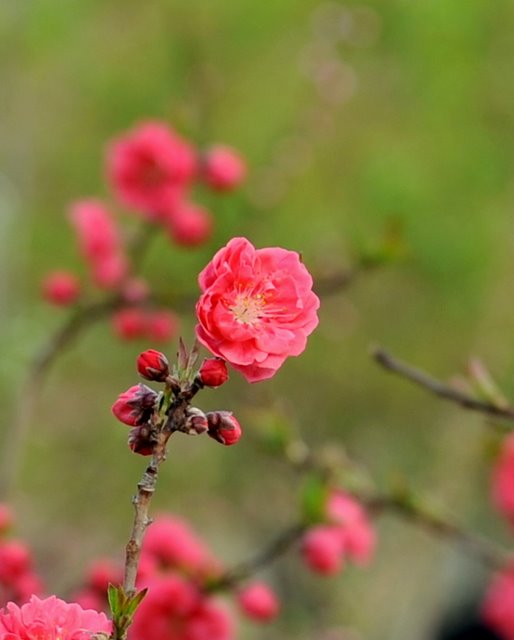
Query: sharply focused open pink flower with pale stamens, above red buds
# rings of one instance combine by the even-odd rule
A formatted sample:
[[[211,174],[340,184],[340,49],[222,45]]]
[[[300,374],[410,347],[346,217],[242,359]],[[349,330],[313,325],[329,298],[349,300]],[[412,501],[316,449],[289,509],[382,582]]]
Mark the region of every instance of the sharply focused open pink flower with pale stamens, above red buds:
[[[271,378],[305,349],[319,299],[294,251],[234,238],[200,273],[198,340],[249,382]]]

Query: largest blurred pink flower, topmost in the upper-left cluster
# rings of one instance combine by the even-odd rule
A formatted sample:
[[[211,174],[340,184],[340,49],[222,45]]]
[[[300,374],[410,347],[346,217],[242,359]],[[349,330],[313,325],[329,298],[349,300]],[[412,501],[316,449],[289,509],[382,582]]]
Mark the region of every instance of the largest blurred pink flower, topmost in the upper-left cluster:
[[[110,145],[107,175],[121,202],[159,219],[196,172],[191,146],[166,123],[144,122]]]

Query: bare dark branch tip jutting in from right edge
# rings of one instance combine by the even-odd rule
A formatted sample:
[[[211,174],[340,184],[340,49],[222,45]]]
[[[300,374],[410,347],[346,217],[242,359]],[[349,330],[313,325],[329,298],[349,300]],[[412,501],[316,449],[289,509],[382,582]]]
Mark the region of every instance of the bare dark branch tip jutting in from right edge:
[[[396,373],[402,378],[410,380],[414,384],[427,389],[439,398],[458,404],[464,409],[478,411],[479,413],[483,413],[489,417],[514,421],[514,407],[498,406],[486,400],[481,400],[475,396],[464,393],[455,387],[433,378],[424,371],[416,369],[415,367],[398,360],[381,347],[373,349],[372,357],[387,371]]]

